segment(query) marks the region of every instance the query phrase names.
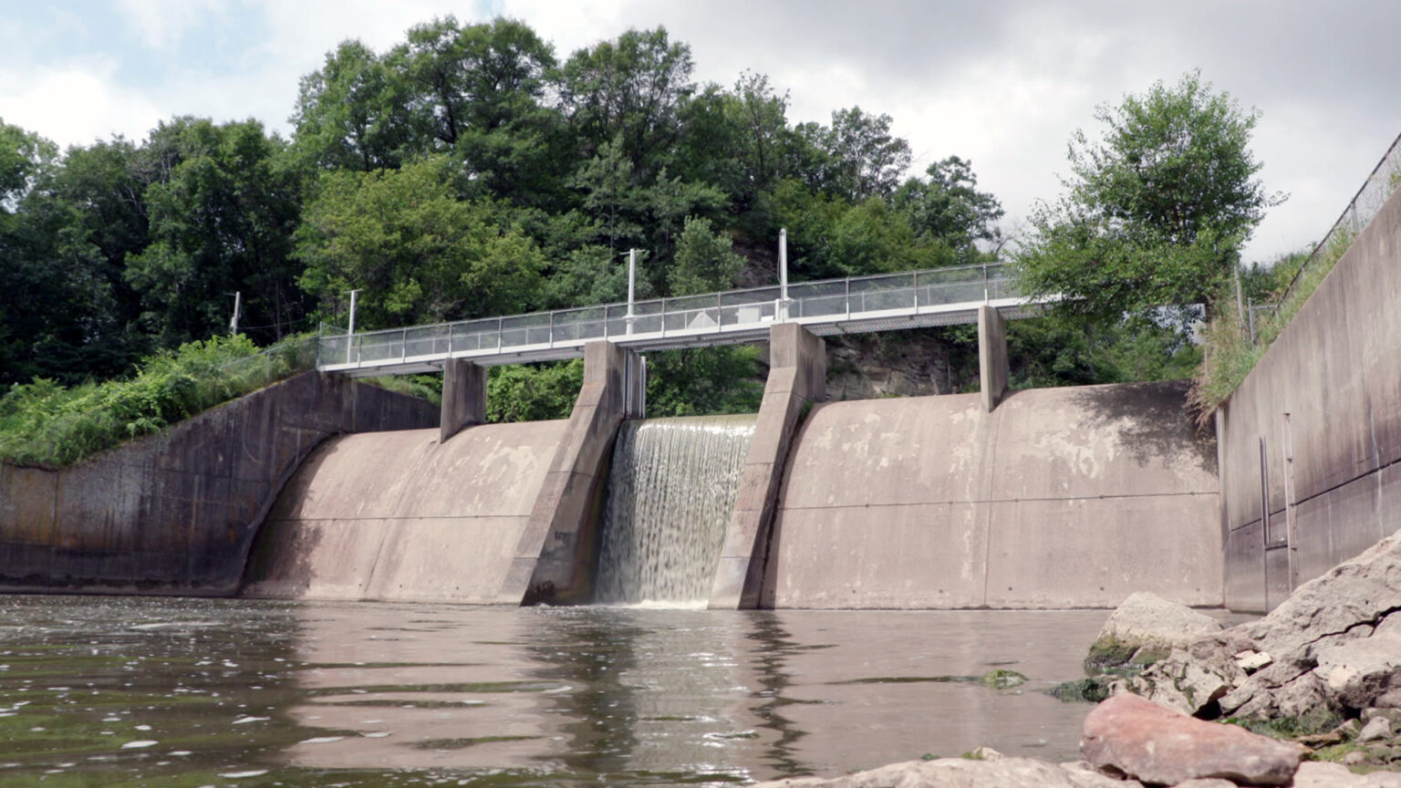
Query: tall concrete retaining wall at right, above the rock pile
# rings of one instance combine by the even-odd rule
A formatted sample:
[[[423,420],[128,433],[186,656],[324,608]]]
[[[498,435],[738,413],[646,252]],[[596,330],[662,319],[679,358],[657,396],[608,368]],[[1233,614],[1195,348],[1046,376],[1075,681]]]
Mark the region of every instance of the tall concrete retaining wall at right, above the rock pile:
[[[1231,609],[1274,609],[1290,587],[1401,526],[1397,337],[1401,196],[1393,195],[1217,414]]]

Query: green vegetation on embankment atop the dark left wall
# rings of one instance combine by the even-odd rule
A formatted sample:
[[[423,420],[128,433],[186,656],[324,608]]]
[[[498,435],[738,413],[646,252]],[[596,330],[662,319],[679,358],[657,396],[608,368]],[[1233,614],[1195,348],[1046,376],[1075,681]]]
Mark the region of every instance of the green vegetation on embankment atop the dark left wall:
[[[63,467],[315,365],[315,335],[259,349],[214,337],[147,356],[127,380],[66,388],[36,379],[0,397],[0,461]]]

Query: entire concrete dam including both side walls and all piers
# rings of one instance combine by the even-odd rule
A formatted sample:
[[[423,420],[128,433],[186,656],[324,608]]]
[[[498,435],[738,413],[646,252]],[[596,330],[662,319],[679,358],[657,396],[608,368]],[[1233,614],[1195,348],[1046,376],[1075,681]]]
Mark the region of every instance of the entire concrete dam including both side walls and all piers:
[[[691,603],[731,609],[1152,590],[1268,610],[1401,526],[1398,254],[1391,195],[1215,435],[1184,383],[1009,391],[998,307],[978,315],[981,393],[941,397],[827,402],[822,341],[775,324],[747,443],[715,449],[727,466],[657,460],[695,496],[733,489],[702,502],[717,524],[684,534],[685,566],[647,530],[667,515],[605,533],[615,444],[643,415],[633,351],[590,342],[572,415],[538,423],[482,423],[485,367],[461,359],[441,411],[307,373],[70,468],[0,466],[0,590],[577,604],[685,575]]]

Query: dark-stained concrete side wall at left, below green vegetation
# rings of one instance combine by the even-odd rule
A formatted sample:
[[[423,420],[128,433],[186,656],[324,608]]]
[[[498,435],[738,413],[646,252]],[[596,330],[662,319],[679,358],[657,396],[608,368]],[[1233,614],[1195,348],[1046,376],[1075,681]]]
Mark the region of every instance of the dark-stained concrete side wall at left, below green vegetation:
[[[436,421],[420,400],[305,373],[70,468],[0,466],[0,590],[231,595],[254,526],[317,444]]]

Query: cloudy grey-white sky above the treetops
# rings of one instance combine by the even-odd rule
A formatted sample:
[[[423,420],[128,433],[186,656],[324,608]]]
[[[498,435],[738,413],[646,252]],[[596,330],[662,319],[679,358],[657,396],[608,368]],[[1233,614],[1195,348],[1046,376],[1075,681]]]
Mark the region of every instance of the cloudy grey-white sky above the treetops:
[[[768,74],[793,122],[888,114],[913,172],[971,158],[1013,231],[1061,192],[1066,140],[1097,133],[1096,105],[1201,69],[1262,112],[1259,177],[1289,195],[1248,261],[1321,237],[1401,132],[1391,0],[0,0],[0,118],[62,146],[140,140],[172,115],[252,116],[287,136],[298,79],[338,42],[384,50],[443,14],[524,20],[559,56],[665,25],[698,81]]]

